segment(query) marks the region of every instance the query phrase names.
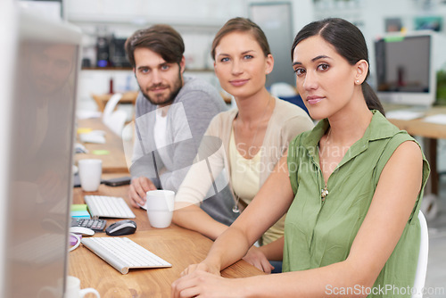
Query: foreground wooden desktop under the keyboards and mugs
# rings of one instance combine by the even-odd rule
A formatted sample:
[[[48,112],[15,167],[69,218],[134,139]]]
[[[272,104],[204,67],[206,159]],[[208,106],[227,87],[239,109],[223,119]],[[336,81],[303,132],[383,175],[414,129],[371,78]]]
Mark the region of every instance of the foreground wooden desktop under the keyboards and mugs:
[[[97,194],[116,195],[127,199],[128,186],[100,186]],[[75,188],[73,203],[83,203],[87,193]],[[96,194],[96,193],[88,193]],[[136,215],[137,229],[128,238],[159,255],[172,264],[167,269],[130,269],[122,275],[80,245],[70,252],[69,274],[81,280],[81,288],[94,287],[102,298],[107,297],[170,297],[171,283],[180,277],[181,271],[189,264],[202,261],[212,241],[201,234],[172,225],[169,228],[151,228],[146,212],[133,209]],[[117,219],[107,219],[107,226]],[[106,236],[96,233],[95,236]],[[264,274],[245,261],[238,261],[222,271],[223,277],[250,277]]]

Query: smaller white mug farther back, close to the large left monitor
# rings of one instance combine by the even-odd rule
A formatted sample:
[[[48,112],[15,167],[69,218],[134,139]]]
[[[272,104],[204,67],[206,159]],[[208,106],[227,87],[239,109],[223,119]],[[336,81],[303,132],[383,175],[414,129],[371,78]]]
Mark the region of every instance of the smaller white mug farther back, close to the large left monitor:
[[[103,161],[86,159],[78,161],[80,186],[86,192],[95,192],[101,184]]]

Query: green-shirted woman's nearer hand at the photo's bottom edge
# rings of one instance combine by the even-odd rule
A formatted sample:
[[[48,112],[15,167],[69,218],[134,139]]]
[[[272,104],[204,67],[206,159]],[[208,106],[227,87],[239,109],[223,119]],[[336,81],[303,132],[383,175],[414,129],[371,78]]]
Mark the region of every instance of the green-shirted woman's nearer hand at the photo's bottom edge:
[[[200,265],[200,264],[198,264]],[[186,297],[244,297],[242,279],[223,278],[196,269],[172,283],[172,298]]]

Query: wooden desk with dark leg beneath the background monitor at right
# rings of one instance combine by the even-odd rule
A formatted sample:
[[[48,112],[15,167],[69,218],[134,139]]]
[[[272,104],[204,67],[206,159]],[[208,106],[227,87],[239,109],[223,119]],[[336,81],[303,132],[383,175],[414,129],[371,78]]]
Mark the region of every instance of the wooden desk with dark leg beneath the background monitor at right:
[[[425,112],[425,116],[435,114],[446,114],[446,107],[436,106]],[[431,176],[425,193],[438,195],[437,139],[446,138],[446,125],[425,122],[422,118],[415,120],[389,120],[398,128],[406,130],[412,136],[425,137],[425,156],[431,167]]]

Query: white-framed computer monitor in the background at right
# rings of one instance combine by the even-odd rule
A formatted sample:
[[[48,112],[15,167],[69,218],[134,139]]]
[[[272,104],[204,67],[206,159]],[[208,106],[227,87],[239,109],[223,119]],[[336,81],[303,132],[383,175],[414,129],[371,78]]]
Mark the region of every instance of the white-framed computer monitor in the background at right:
[[[434,35],[387,34],[375,41],[376,91],[383,103],[429,106],[435,101]]]

